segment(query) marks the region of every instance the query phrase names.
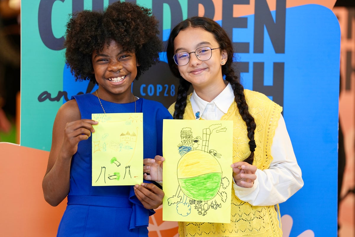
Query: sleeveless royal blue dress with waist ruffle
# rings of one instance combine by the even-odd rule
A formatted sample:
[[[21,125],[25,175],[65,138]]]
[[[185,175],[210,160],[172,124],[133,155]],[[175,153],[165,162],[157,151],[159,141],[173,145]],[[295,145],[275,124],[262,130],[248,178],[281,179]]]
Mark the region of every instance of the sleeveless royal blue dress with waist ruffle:
[[[76,100],[82,119],[91,119],[92,113],[103,113],[98,98],[90,93],[71,99]],[[106,113],[135,111],[134,102],[116,104],[101,99],[101,103]],[[143,98],[136,101],[136,111],[143,113],[144,158],[162,155],[163,119],[171,119],[170,113],[161,103]],[[72,157],[68,203],[57,236],[148,236],[149,216],[155,212],[143,207],[133,186],[91,185],[91,147],[91,137],[80,141]]]

